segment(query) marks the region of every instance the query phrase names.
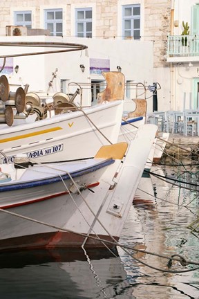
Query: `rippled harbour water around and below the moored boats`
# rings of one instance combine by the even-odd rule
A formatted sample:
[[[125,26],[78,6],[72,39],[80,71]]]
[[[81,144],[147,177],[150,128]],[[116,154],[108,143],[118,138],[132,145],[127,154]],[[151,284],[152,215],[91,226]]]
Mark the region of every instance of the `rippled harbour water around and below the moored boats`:
[[[117,251],[3,253],[1,298],[199,298],[199,233],[187,228],[198,217],[198,170],[151,172],[159,176],[141,179]],[[169,268],[173,254],[196,264]]]

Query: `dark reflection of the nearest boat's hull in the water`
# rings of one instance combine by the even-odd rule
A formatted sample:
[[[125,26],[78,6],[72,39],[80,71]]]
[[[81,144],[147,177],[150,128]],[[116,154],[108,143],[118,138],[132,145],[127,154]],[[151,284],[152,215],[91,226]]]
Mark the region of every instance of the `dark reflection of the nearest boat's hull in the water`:
[[[86,254],[88,259],[82,249],[1,253],[1,298],[132,298],[116,250]]]

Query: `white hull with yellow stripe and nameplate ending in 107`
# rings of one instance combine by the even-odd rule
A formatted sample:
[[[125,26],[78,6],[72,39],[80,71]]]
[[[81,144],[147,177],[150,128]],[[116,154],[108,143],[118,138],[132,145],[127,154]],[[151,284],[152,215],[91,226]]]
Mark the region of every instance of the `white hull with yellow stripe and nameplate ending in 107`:
[[[0,149],[9,162],[17,154],[43,162],[91,158],[102,145],[117,142],[122,111],[117,100],[33,123],[1,125]]]

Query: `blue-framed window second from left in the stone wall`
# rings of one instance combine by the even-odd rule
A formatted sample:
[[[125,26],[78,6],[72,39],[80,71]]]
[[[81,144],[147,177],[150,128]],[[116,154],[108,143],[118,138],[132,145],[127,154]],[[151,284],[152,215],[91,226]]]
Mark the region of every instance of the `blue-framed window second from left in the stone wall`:
[[[50,35],[63,35],[62,9],[45,10],[45,29],[50,30]]]

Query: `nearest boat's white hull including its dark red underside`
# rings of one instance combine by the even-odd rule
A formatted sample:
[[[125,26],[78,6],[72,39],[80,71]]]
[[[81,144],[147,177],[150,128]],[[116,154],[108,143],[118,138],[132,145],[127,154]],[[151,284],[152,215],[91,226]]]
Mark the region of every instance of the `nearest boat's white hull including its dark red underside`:
[[[0,214],[0,250],[79,247],[87,234],[85,246],[104,248],[104,243],[99,241],[102,238],[112,241],[108,244],[112,248],[120,237],[128,206],[127,200],[122,203],[120,215],[114,211],[114,190],[109,188],[117,167],[115,161],[106,170],[103,167],[75,177],[78,184],[88,185],[89,190],[82,190],[81,194],[68,192],[69,180],[64,184],[59,181],[2,191],[1,209],[5,212],[1,210]]]

